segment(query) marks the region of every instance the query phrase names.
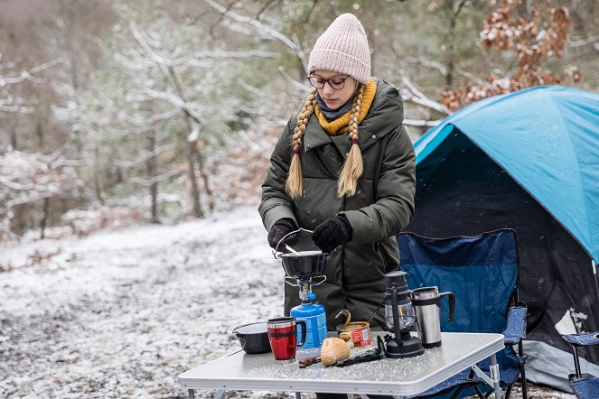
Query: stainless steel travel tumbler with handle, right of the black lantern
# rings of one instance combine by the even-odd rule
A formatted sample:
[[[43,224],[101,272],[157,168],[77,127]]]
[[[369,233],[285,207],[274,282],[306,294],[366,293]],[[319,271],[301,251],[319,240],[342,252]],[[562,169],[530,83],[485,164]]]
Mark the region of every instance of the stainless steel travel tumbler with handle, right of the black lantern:
[[[422,346],[435,348],[441,346],[441,299],[449,298],[449,321],[454,319],[454,292],[439,292],[439,288],[421,287],[412,290],[412,304],[416,310],[416,325],[422,339]]]

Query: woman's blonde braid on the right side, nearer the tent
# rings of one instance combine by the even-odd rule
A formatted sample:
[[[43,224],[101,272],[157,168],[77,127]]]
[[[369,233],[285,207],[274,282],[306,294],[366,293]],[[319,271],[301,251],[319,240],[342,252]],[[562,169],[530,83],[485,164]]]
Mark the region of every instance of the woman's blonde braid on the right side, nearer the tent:
[[[339,198],[343,196],[352,197],[356,193],[358,187],[358,178],[364,172],[364,164],[362,162],[362,153],[358,145],[358,117],[360,116],[360,104],[364,95],[364,85],[360,84],[358,93],[353,99],[351,106],[350,125],[348,135],[351,140],[351,150],[337,182],[337,195]]]

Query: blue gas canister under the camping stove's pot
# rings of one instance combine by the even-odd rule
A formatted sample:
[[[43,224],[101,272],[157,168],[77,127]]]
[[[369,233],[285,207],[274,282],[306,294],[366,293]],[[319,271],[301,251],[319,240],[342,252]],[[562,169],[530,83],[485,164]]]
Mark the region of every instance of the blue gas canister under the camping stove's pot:
[[[326,338],[326,312],[316,301],[314,292],[308,292],[307,301],[295,306],[290,312],[297,320],[305,321],[305,342],[302,349],[321,348]],[[297,330],[297,342],[302,341],[302,332]]]

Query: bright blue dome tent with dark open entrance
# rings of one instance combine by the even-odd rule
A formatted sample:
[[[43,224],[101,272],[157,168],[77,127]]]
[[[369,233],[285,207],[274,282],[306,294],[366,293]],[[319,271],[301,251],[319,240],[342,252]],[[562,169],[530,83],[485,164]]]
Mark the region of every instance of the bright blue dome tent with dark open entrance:
[[[527,377],[567,390],[560,334],[599,329],[599,95],[541,86],[486,98],[426,132],[416,150],[416,214],[407,231],[518,233],[529,305]],[[599,348],[583,369],[599,375]]]

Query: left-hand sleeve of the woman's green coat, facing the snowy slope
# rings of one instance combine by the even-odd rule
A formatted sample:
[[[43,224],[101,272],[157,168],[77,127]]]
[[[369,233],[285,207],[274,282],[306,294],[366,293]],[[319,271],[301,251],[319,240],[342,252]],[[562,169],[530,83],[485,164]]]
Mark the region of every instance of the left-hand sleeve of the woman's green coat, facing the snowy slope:
[[[258,207],[262,224],[270,230],[277,220],[291,218],[297,225],[294,215],[294,202],[285,193],[285,181],[291,163],[292,145],[291,133],[295,128],[295,118],[292,116],[285,125],[282,135],[270,156],[270,167],[262,183],[262,200]]]

